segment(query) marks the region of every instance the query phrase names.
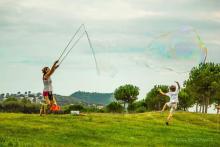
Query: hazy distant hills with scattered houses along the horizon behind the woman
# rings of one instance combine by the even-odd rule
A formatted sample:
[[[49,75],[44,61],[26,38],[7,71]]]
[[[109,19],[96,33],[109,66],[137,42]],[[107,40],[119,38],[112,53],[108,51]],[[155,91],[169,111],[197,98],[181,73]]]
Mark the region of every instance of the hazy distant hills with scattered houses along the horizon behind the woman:
[[[105,105],[114,101],[113,93],[96,93],[96,92],[83,92],[76,91],[69,96],[62,96],[54,94],[56,101],[59,105],[71,105],[82,104],[88,107],[103,108]],[[4,101],[8,98],[16,98],[18,100],[27,99],[33,104],[41,104],[43,101],[43,95],[41,92],[25,91],[17,93],[0,93],[0,101]]]

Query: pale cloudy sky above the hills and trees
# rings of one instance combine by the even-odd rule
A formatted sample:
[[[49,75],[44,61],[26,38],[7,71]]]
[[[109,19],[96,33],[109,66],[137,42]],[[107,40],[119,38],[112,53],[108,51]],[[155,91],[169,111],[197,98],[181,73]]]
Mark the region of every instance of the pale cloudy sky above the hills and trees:
[[[207,61],[220,63],[219,8],[218,0],[0,0],[0,93],[41,92],[41,69],[59,58],[81,24],[100,73],[83,36],[52,75],[54,93],[114,92],[133,84],[141,99],[154,85],[182,85],[198,62],[158,69],[166,61],[150,60],[149,43],[190,26],[208,48]],[[182,66],[187,72],[178,72]]]

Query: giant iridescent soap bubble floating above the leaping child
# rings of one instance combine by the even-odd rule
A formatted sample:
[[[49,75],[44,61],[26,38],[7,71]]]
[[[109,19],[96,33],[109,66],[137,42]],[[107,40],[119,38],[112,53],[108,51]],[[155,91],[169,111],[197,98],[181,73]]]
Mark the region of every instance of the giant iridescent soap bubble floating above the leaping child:
[[[192,27],[160,34],[146,48],[145,65],[157,71],[185,73],[204,63],[207,48]]]

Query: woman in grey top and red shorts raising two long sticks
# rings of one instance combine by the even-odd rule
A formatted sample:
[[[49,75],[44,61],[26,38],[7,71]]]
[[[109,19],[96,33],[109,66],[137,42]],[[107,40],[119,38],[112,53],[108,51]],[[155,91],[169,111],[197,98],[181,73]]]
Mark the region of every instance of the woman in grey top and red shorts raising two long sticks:
[[[52,80],[50,77],[54,73],[54,71],[59,67],[59,65],[57,65],[58,62],[58,60],[55,61],[51,69],[49,67],[44,67],[42,69],[44,83],[43,97],[46,103],[41,106],[40,115],[42,115],[42,113],[46,114],[47,106],[52,106],[53,104],[56,104],[56,100],[53,97]]]

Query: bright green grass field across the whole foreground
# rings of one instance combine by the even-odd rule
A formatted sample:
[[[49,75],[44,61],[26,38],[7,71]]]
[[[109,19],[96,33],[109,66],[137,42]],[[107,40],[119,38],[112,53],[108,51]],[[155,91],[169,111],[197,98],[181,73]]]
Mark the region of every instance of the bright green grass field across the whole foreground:
[[[220,146],[220,115],[0,113],[0,146]]]

